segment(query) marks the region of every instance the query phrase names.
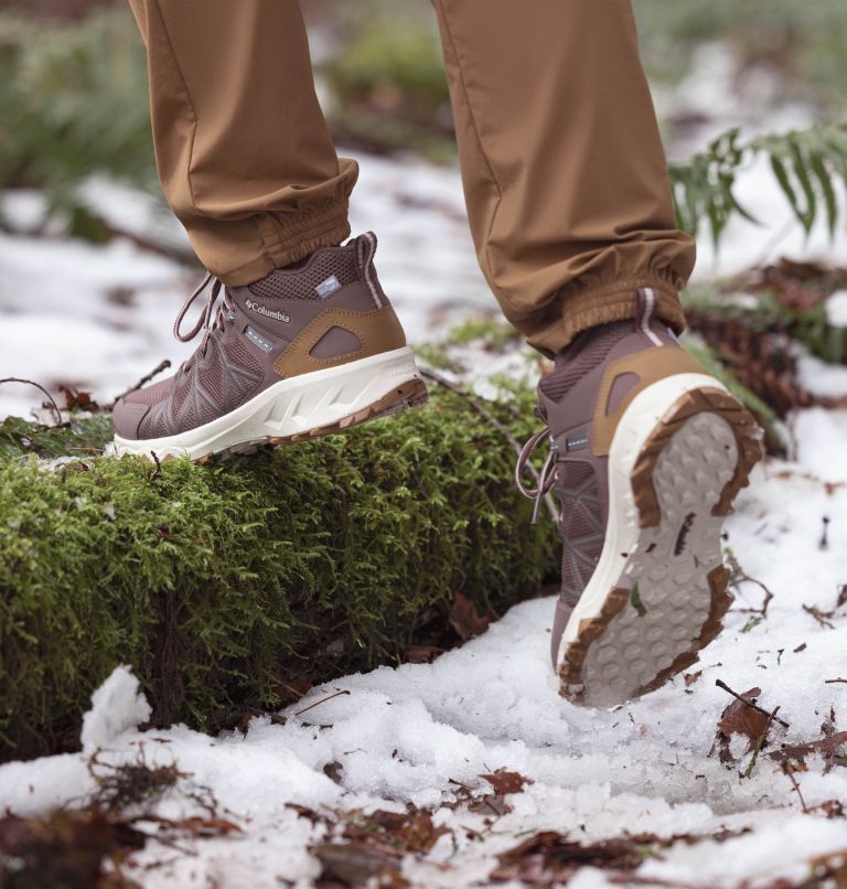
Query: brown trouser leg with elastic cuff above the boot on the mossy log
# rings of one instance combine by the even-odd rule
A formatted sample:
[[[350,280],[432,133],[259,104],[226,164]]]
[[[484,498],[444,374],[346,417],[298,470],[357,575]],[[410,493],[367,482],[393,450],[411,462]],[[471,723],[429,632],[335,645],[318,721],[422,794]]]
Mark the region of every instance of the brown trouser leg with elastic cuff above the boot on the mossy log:
[[[297,0],[130,0],[157,165],[201,261],[244,285],[350,234]]]

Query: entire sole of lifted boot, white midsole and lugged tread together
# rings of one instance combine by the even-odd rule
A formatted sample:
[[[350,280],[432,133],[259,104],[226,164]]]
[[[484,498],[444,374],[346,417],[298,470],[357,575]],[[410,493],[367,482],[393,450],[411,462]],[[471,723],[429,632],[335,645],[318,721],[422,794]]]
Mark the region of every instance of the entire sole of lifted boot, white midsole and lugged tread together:
[[[629,700],[690,665],[717,634],[731,603],[727,493],[758,459],[757,431],[707,375],[663,379],[626,409],[609,454],[605,543],[559,645],[566,697]]]

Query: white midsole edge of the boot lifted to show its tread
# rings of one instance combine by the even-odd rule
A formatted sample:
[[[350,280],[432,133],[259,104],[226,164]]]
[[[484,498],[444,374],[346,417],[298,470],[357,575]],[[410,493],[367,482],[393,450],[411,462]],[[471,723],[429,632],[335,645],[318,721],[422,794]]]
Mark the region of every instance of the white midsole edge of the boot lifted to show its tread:
[[[631,474],[647,438],[662,417],[686,393],[698,388],[727,392],[708,374],[675,374],[654,383],[635,396],[624,411],[609,452],[609,520],[605,542],[591,579],[579,598],[559,643],[558,663],[566,647],[576,641],[583,620],[598,617],[611,589],[626,587],[622,582],[625,559],[632,555],[641,535],[639,510],[632,491]]]

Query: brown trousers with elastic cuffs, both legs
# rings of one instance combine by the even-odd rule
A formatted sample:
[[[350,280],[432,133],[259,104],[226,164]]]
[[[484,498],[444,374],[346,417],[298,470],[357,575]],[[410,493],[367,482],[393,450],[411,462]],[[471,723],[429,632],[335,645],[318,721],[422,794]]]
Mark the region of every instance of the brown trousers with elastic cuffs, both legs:
[[[478,258],[555,353],[654,288],[676,330],[677,231],[630,0],[432,0]],[[165,196],[203,264],[249,283],[350,234],[297,0],[130,0]]]

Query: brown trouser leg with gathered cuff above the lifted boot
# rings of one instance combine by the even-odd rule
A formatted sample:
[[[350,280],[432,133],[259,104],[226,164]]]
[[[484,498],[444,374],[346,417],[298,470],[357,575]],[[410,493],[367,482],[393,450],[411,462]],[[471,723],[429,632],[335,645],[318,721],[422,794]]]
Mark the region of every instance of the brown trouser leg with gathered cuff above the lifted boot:
[[[547,353],[634,317],[677,331],[677,231],[630,0],[433,0],[471,229],[505,315]]]

